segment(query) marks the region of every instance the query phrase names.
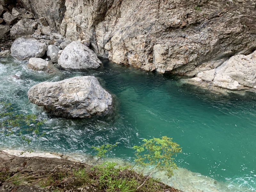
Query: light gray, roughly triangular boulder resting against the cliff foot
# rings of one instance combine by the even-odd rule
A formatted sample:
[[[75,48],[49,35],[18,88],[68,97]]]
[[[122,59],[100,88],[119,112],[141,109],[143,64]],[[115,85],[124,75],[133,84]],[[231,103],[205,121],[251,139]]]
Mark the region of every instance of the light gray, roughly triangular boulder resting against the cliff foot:
[[[65,69],[86,69],[100,67],[101,61],[88,47],[73,41],[61,53],[58,64]]]

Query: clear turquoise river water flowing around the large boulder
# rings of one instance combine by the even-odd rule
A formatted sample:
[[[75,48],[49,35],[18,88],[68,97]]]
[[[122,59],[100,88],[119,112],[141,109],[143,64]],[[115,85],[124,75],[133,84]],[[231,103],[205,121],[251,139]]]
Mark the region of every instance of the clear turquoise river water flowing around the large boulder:
[[[237,188],[256,188],[256,95],[223,96],[179,83],[180,77],[148,73],[103,61],[97,70],[33,71],[26,61],[0,59],[0,100],[16,111],[36,113],[47,121],[38,151],[92,154],[92,145],[119,142],[109,156],[131,160],[143,138],[168,136],[180,144],[179,167]],[[53,118],[31,104],[28,89],[43,81],[93,75],[114,96],[111,116],[85,120]],[[22,149],[15,136],[0,135],[0,147]]]

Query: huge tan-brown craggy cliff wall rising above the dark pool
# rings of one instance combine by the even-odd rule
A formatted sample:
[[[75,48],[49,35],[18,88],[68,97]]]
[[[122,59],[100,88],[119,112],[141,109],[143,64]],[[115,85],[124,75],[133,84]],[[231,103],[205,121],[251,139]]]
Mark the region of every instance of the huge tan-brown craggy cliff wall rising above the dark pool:
[[[256,48],[255,3],[68,0],[61,33],[116,63],[195,76]]]

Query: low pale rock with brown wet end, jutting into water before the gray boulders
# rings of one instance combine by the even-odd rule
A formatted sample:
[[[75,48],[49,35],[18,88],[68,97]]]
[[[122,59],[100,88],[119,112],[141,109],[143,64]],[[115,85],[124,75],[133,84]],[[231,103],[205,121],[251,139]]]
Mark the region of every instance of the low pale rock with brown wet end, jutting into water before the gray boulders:
[[[53,66],[52,62],[45,61],[41,58],[30,58],[28,61],[28,67],[36,71],[46,71],[49,74],[59,71]]]

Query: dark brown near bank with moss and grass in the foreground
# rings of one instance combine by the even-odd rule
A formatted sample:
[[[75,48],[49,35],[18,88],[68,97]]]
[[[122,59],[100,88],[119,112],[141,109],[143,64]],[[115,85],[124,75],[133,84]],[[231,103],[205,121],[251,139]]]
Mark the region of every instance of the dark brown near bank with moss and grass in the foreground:
[[[101,186],[102,181],[99,179],[101,172],[97,172],[92,166],[61,159],[60,156],[48,154],[48,157],[52,158],[18,157],[0,151],[0,190],[3,192],[50,192],[53,190],[89,192],[105,191],[104,188],[108,187],[108,184]],[[115,171],[111,170],[111,172]],[[115,176],[112,175],[112,177]],[[122,181],[132,180],[138,186],[146,179],[127,170],[120,170],[117,178]],[[137,191],[181,192],[152,179],[144,185]],[[116,188],[121,186],[122,184],[119,184]]]

